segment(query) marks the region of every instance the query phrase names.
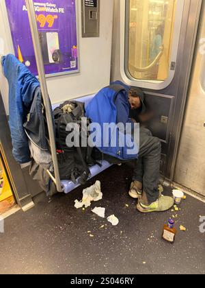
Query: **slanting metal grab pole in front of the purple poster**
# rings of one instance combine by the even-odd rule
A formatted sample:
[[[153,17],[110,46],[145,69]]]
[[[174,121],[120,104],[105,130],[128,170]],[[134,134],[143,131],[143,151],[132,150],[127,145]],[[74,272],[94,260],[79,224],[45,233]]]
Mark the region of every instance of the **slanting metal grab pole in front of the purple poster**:
[[[28,15],[29,15],[29,23],[30,23],[31,34],[32,34],[32,39],[33,39],[33,48],[34,48],[35,56],[36,56],[36,64],[37,64],[38,75],[40,79],[40,87],[42,91],[44,108],[46,111],[46,120],[48,123],[48,129],[49,129],[49,139],[50,139],[50,145],[51,145],[51,154],[53,158],[56,188],[58,192],[63,192],[63,189],[61,187],[60,177],[59,177],[59,168],[58,168],[58,163],[57,163],[57,154],[56,154],[56,146],[55,146],[55,135],[53,132],[53,120],[52,120],[52,115],[51,115],[51,110],[50,110],[49,93],[48,93],[48,89],[46,85],[44,62],[42,58],[42,50],[40,46],[38,26],[36,22],[36,12],[34,9],[33,0],[25,0],[25,1],[26,1]]]

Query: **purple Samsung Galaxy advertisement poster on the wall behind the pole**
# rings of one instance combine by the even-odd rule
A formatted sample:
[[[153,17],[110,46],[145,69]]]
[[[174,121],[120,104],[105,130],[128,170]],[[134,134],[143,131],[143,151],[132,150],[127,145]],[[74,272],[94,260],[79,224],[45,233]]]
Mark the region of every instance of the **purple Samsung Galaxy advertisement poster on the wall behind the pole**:
[[[33,1],[45,73],[79,71],[75,0]],[[5,0],[15,55],[38,75],[25,0]]]

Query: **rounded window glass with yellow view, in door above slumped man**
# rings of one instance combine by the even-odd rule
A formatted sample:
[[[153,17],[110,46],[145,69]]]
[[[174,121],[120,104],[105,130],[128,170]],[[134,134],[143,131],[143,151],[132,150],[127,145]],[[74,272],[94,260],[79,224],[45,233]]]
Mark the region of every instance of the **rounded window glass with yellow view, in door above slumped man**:
[[[169,76],[177,0],[130,0],[128,72],[137,80]]]

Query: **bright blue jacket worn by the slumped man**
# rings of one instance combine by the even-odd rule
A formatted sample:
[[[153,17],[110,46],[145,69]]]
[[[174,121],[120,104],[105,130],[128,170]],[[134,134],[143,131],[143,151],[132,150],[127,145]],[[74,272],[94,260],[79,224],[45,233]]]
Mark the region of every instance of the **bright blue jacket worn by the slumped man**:
[[[118,115],[119,112],[122,114],[120,117]],[[111,86],[103,88],[88,104],[86,107],[86,117],[91,119],[91,130],[96,135],[93,139],[93,145],[100,152],[120,160],[137,158],[139,147],[137,147],[133,140],[134,123],[129,119],[128,115],[128,90],[120,85],[120,83],[113,83]],[[125,130],[117,128],[118,118],[124,122],[124,125],[130,123],[131,131],[129,133],[125,133]],[[100,125],[100,129],[95,129],[95,123]],[[105,129],[103,130],[105,123],[107,125],[112,123],[109,132],[105,131]],[[91,136],[93,132],[91,132]],[[96,139],[98,140],[96,141]],[[124,143],[124,145],[120,143]]]

